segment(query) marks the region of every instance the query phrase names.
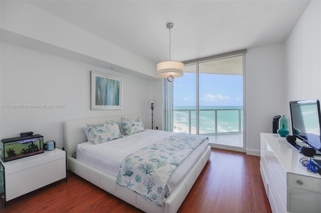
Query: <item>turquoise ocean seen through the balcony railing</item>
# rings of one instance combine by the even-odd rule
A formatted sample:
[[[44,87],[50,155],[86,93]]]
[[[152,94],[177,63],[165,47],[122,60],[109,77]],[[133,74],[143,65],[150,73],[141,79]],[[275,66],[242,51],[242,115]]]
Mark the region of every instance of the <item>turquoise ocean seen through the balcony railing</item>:
[[[191,113],[191,126],[196,128],[195,107],[174,106],[173,109],[176,124],[188,126],[189,113]],[[215,132],[215,110],[217,110],[217,132]],[[239,111],[241,120],[239,120]],[[241,129],[239,129],[239,122],[241,122]],[[201,134],[243,131],[243,106],[200,106],[199,126]],[[175,124],[173,127],[174,130],[178,128]]]

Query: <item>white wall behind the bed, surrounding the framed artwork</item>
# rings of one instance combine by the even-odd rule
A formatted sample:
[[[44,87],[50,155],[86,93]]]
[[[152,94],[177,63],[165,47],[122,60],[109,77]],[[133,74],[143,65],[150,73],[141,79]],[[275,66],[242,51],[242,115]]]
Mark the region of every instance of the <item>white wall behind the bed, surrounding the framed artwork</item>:
[[[161,101],[161,79],[147,80],[98,66],[1,42],[1,104],[64,104],[64,108],[4,108],[1,114],[1,138],[34,131],[45,141],[54,139],[63,146],[63,122],[66,119],[121,114],[140,114],[150,128],[148,100]],[[123,78],[123,108],[90,110],[90,70]],[[160,93],[160,95],[159,95]],[[156,96],[156,97],[155,97]],[[161,113],[161,109],[155,109]],[[156,125],[162,126],[161,119]]]

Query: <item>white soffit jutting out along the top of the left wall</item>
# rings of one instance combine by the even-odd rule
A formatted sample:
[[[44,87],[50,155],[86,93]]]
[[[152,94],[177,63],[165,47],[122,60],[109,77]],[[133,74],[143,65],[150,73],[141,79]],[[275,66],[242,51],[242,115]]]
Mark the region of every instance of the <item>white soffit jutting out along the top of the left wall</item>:
[[[52,54],[156,76],[156,64],[24,1],[0,1],[1,39]]]

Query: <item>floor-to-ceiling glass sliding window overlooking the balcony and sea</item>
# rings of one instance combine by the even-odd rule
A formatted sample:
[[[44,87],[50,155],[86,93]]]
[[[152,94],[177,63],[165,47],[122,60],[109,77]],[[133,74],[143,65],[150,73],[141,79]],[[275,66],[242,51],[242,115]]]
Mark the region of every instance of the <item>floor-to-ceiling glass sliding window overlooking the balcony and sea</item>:
[[[173,131],[244,150],[244,53],[185,63],[173,82]]]

